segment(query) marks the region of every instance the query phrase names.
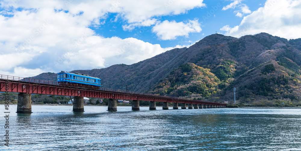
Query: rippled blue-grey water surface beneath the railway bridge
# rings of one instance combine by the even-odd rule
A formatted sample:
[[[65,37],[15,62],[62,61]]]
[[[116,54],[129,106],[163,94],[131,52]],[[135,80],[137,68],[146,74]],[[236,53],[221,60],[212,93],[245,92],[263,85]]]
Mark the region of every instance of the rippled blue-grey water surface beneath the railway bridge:
[[[2,116],[0,150],[301,150],[301,109],[169,109],[35,105],[10,113],[8,147]]]

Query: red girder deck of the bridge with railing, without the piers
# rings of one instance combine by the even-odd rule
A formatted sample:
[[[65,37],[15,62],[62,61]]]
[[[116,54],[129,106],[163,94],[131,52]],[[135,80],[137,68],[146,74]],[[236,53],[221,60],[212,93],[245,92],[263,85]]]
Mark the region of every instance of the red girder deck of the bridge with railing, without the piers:
[[[39,80],[32,78],[14,77],[0,75],[0,91],[5,91],[5,85],[8,85],[8,92],[33,93],[45,95],[64,95],[80,96],[92,98],[112,98],[124,100],[141,100],[141,101],[159,101],[174,103],[191,103],[207,105],[227,105],[224,103],[188,100],[185,98],[170,97],[164,95],[155,95],[141,92],[132,92],[117,89],[98,88],[95,86],[78,85],[74,83],[58,83],[48,80]]]

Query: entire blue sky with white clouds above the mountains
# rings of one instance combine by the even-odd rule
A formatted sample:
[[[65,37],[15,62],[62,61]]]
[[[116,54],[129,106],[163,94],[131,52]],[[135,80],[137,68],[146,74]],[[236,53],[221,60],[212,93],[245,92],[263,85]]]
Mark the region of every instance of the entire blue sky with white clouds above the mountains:
[[[216,32],[301,38],[301,0],[2,0],[0,74],[130,65]]]

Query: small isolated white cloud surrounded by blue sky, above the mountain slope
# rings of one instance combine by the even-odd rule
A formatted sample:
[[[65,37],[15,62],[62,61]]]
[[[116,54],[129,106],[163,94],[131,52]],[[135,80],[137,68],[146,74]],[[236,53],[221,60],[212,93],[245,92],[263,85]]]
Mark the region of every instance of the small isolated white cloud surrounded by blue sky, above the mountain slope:
[[[202,29],[197,19],[189,20],[188,23],[165,20],[162,23],[157,23],[152,29],[152,32],[156,33],[161,40],[172,40],[176,39],[177,36],[187,37],[191,32],[201,31]]]

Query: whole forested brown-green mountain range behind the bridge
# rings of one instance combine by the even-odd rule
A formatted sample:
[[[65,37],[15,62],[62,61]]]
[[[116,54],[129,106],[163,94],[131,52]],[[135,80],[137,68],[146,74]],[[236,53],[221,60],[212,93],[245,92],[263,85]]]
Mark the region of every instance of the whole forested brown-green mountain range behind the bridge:
[[[102,87],[209,101],[300,105],[301,38],[267,33],[234,38],[209,35],[189,48],[173,49],[132,65],[75,70],[101,78]],[[56,80],[43,73],[38,79]]]

